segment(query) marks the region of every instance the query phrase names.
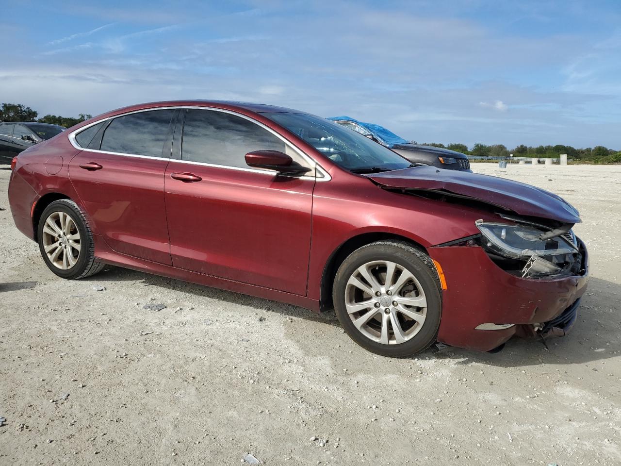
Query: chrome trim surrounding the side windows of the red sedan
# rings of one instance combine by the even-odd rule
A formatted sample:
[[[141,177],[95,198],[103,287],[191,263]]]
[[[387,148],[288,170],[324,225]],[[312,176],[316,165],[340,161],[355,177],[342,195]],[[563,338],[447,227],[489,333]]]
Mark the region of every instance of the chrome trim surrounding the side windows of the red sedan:
[[[299,147],[297,147],[291,141],[289,141],[288,139],[284,138],[283,135],[278,134],[278,132],[274,131],[273,129],[271,129],[268,126],[265,126],[265,124],[261,123],[260,121],[256,121],[255,119],[252,119],[251,117],[242,115],[242,114],[240,114],[238,112],[233,112],[233,111],[230,111],[230,110],[227,110],[227,109],[219,109],[219,108],[215,108],[215,107],[201,107],[201,106],[193,106],[193,105],[181,105],[181,106],[166,106],[166,107],[150,107],[150,108],[145,108],[145,109],[140,109],[140,110],[134,110],[134,111],[131,111],[131,112],[120,113],[118,115],[109,116],[109,117],[106,117],[106,118],[99,119],[97,121],[89,123],[86,126],[83,126],[81,128],[78,128],[78,129],[72,131],[68,135],[69,142],[76,149],[88,150],[89,152],[95,152],[95,153],[107,153],[107,154],[110,154],[110,155],[124,155],[125,157],[151,158],[151,159],[154,159],[154,160],[168,160],[169,162],[189,163],[189,164],[193,164],[193,165],[202,165],[204,167],[227,168],[228,170],[250,171],[252,173],[265,173],[266,175],[272,175],[272,176],[274,176],[277,173],[274,170],[260,170],[258,168],[231,167],[230,165],[217,165],[215,163],[194,162],[193,160],[181,160],[181,159],[170,158],[170,157],[168,157],[168,158],[167,157],[153,157],[152,155],[138,155],[138,154],[135,154],[135,153],[108,152],[106,150],[89,149],[87,147],[81,147],[81,145],[79,145],[78,142],[76,141],[76,134],[78,134],[79,132],[82,132],[85,129],[88,129],[91,126],[95,126],[96,124],[99,124],[101,122],[108,121],[108,120],[111,120],[111,119],[114,119],[114,118],[118,118],[118,117],[122,117],[122,116],[131,115],[131,114],[134,114],[134,113],[148,112],[148,111],[153,111],[153,110],[168,110],[168,109],[198,109],[198,110],[223,112],[223,113],[228,113],[228,114],[235,115],[235,116],[238,116],[238,117],[242,117],[243,119],[246,119],[246,120],[248,120],[250,122],[253,122],[254,124],[260,126],[261,128],[263,128],[265,130],[268,130],[271,134],[273,134],[274,136],[278,137],[278,139],[282,140],[284,142],[284,144],[289,145],[289,147],[293,148],[293,150],[295,150],[300,157],[302,157],[304,160],[306,160],[306,162],[309,163],[309,165],[311,167],[315,168],[315,173],[317,173],[315,176],[308,176],[308,175],[295,176],[295,175],[287,175],[286,173],[279,173],[280,176],[288,176],[290,178],[296,178],[297,180],[315,180],[315,181],[330,181],[330,180],[332,180],[332,176],[330,176],[330,174],[324,169],[324,167],[319,165],[319,163],[317,163],[311,156],[307,155],[304,151],[302,151]]]

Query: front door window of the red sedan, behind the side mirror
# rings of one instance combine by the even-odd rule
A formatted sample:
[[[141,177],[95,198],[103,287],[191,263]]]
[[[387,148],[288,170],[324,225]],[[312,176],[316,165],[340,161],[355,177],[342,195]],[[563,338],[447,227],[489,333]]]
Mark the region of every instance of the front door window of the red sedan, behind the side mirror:
[[[183,126],[183,160],[248,168],[244,157],[253,150],[289,153],[283,140],[245,118],[211,110],[188,110]]]

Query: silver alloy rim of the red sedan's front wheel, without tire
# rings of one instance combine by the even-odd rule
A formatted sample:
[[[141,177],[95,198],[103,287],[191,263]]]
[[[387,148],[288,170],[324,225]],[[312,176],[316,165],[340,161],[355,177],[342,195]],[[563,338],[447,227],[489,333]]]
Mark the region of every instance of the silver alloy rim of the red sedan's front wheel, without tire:
[[[351,274],[345,308],[365,337],[386,345],[404,343],[422,328],[427,299],[417,278],[386,260],[367,262]]]

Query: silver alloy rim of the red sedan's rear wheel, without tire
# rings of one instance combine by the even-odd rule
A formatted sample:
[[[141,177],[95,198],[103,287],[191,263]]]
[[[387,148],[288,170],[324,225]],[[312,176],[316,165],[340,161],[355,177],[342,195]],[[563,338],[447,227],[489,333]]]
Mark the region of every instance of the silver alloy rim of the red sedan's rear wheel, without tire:
[[[43,225],[43,250],[54,267],[68,270],[78,262],[80,236],[78,226],[65,212],[52,212]]]

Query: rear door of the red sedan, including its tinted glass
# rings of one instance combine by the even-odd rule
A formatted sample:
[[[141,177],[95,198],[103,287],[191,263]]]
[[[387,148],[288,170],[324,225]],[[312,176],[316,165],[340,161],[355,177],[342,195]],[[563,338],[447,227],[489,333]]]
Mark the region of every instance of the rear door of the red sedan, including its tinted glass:
[[[178,112],[134,112],[87,128],[75,142],[88,147],[69,164],[73,186],[109,247],[168,265],[164,173]]]

